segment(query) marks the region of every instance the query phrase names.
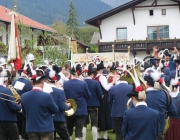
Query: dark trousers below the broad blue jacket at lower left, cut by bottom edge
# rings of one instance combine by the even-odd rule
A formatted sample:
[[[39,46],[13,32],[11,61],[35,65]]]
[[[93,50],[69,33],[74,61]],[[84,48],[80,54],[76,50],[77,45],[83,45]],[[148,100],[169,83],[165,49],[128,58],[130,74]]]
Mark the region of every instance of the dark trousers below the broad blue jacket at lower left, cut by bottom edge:
[[[29,140],[53,140],[53,132],[28,133]]]

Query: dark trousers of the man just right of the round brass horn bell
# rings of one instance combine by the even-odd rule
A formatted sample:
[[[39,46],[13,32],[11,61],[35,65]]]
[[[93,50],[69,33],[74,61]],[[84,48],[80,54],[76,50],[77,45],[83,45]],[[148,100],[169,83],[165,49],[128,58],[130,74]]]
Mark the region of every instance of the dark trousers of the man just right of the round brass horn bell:
[[[82,128],[84,125],[85,116],[67,116],[67,128],[69,131],[69,135],[73,134],[73,127],[75,126],[75,137],[82,138]]]

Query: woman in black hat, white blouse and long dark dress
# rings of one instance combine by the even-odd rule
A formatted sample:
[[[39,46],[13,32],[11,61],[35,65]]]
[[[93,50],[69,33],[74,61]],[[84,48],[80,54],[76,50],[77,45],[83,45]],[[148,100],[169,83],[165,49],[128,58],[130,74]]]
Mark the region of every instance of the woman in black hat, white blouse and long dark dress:
[[[116,76],[113,81],[108,83],[107,78],[102,74],[105,69],[103,61],[97,65],[97,75],[94,80],[97,80],[103,92],[103,98],[100,100],[100,107],[98,108],[98,140],[109,140],[107,136],[107,130],[112,129],[111,117],[110,117],[110,104],[108,102],[109,89],[114,85]]]

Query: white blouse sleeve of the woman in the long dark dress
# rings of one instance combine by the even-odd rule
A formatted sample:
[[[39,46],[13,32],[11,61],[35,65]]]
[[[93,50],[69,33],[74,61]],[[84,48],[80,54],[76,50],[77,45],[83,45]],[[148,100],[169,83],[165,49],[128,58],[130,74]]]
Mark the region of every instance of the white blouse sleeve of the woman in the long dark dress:
[[[105,90],[109,91],[109,89],[113,86],[113,84],[112,83],[108,83],[106,77],[104,75],[102,75],[102,74],[97,74],[96,77],[98,77],[99,75],[100,75],[99,82],[101,83],[102,87]]]

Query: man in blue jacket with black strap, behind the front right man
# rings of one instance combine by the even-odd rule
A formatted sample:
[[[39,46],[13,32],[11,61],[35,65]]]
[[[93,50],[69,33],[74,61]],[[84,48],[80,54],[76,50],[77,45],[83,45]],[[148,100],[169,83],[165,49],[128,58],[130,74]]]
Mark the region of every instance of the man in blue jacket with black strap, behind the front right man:
[[[160,117],[160,129],[158,133],[158,140],[164,140],[164,126],[165,126],[165,115],[166,115],[166,110],[168,111],[168,115],[175,115],[177,113],[177,107],[174,105],[173,102],[170,102],[169,109],[167,109],[167,96],[165,91],[163,90],[156,90],[154,88],[154,80],[151,77],[151,75],[145,76],[144,80],[146,82],[146,94],[147,94],[147,99],[146,103],[148,107],[155,109],[159,111],[159,117]],[[171,99],[170,99],[171,100]]]

